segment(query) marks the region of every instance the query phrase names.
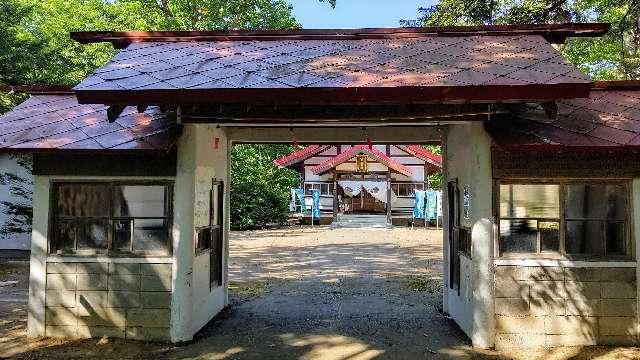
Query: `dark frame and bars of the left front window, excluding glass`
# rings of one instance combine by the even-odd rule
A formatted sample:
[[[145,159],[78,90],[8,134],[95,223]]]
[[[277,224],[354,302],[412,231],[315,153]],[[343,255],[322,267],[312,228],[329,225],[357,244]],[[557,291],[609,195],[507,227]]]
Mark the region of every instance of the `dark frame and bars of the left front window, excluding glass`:
[[[78,239],[76,236],[74,247],[76,248],[72,252],[58,253],[58,233],[57,224],[60,222],[60,216],[56,213],[57,196],[59,186],[64,185],[105,185],[109,191],[108,215],[106,217],[87,217],[91,218],[106,218],[107,222],[107,248],[106,249],[78,249]],[[113,196],[117,186],[163,186],[165,193],[165,216],[163,217],[132,217],[132,216],[114,216],[114,202]],[[108,256],[108,257],[171,257],[173,256],[173,188],[174,181],[168,179],[148,179],[148,180],[85,180],[85,179],[56,179],[51,180],[49,183],[49,224],[47,226],[47,255],[48,256],[71,256],[71,257],[83,257],[83,256]],[[64,218],[64,217],[63,217]],[[68,217],[66,221],[77,222],[78,217]],[[167,240],[165,249],[162,251],[149,251],[149,250],[133,250],[134,248],[134,232],[133,222],[135,219],[163,219],[166,222],[167,228]],[[62,219],[64,221],[64,219]],[[131,242],[129,244],[129,251],[118,251],[113,249],[113,243],[115,238],[115,223],[117,221],[130,221],[131,222]]]

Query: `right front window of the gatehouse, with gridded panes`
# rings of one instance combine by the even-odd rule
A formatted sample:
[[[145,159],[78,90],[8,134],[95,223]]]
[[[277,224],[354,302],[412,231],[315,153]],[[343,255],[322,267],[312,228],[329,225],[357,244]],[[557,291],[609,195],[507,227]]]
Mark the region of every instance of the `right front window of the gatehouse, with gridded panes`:
[[[628,182],[501,183],[500,255],[630,254]]]

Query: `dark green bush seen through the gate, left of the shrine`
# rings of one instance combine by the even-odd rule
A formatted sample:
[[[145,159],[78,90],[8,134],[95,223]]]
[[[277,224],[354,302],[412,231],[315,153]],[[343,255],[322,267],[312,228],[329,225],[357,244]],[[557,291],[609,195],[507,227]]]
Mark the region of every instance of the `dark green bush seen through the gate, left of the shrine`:
[[[259,228],[288,217],[291,188],[298,173],[279,169],[273,160],[290,154],[288,145],[235,145],[231,150],[231,227]]]

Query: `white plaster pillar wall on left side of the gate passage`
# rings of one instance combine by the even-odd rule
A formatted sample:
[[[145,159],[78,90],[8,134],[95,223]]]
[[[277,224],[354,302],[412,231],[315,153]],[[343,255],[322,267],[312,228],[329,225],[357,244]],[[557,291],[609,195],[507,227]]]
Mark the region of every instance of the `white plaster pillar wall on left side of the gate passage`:
[[[219,148],[214,149],[215,138]],[[226,134],[215,125],[185,125],[178,141],[178,173],[174,194],[174,292],[171,313],[171,340],[189,341],[228,304],[227,254],[229,229],[229,144]],[[195,255],[195,226],[200,218],[202,197],[197,191],[212,179],[224,181],[225,218],[223,237],[223,284],[209,289],[209,257]]]

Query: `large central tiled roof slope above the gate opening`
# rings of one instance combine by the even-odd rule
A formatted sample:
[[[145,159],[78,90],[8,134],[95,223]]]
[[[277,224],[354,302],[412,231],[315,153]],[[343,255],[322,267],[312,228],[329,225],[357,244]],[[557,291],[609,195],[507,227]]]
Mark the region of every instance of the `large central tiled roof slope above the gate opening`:
[[[131,56],[126,56],[127,53]],[[166,84],[178,89],[194,86],[204,89],[202,84],[205,83],[227,87],[221,82],[198,78],[198,73],[212,80],[229,79],[224,81],[228,85],[251,88],[279,87],[282,84],[306,87],[312,83],[313,87],[322,84],[366,87],[376,86],[382,79],[386,80],[385,86],[516,86],[588,82],[537,35],[162,42],[153,46],[132,44],[117,57],[118,64],[112,62],[114,65],[105,66],[112,66],[111,71],[104,72],[105,68],[98,70],[77,89],[154,89],[154,84],[158,89],[165,89]],[[438,63],[448,70],[444,73],[434,70],[434,64]],[[234,70],[225,65],[232,66]],[[473,70],[454,76],[462,69]],[[152,73],[154,78],[163,81],[150,81],[140,72]],[[427,75],[417,74],[420,72]],[[123,78],[128,75],[130,77]],[[105,81],[96,80],[97,77]],[[315,77],[340,79],[316,82]],[[279,78],[283,81],[266,81]],[[304,80],[292,82],[292,79]],[[432,81],[435,79],[437,81]]]

